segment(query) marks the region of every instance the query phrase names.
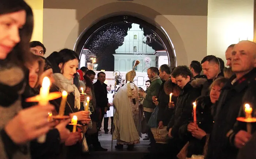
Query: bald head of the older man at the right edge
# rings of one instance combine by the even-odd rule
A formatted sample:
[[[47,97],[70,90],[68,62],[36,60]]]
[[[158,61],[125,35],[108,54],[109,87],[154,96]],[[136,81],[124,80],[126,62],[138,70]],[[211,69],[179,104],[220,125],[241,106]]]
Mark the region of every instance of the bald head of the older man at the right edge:
[[[255,67],[256,44],[252,41],[240,41],[234,46],[231,56],[232,71],[235,73],[249,72]]]

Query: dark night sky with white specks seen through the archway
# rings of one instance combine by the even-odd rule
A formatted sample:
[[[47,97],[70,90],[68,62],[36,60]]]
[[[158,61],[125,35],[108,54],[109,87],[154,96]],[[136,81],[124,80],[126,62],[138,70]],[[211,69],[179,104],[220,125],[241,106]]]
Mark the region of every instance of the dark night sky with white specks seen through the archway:
[[[127,35],[128,28],[131,28],[131,23],[115,23],[108,25],[97,33],[89,40],[85,45],[92,53],[97,56],[97,71],[105,69],[105,71],[114,71],[114,56],[115,50],[123,45],[124,37]],[[153,32],[147,28],[142,27],[144,36],[153,34]],[[159,39],[157,39],[159,41]],[[164,49],[162,45],[157,42],[148,44],[153,47],[154,50]]]

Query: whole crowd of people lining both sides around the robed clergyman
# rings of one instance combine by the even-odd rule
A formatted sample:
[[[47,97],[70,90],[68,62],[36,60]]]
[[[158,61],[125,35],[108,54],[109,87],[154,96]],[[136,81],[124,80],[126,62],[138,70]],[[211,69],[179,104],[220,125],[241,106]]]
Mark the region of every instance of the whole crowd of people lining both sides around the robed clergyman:
[[[112,96],[104,72],[97,73],[93,83],[96,73],[86,67],[78,70],[79,57],[71,49],[45,58],[44,45],[30,42],[32,31],[29,5],[23,0],[1,0],[1,159],[73,159],[89,151],[108,151],[101,147],[98,132],[104,119],[108,134],[109,117],[117,149],[128,145],[133,150],[142,131],[147,133],[144,140],[151,143],[145,158],[256,158],[256,125],[237,120],[248,118],[245,104],[252,108],[252,118],[256,117],[255,43],[245,40],[230,45],[225,52],[229,68],[214,55],[192,61],[189,67],[150,67],[146,91],[133,82],[136,72],[132,69]],[[138,64],[136,61],[133,68]],[[64,115],[77,116],[80,126],[75,131],[69,118],[49,121],[50,113],[59,114],[61,98],[44,106],[26,102],[39,95],[44,77],[50,79],[49,92],[67,92]],[[166,143],[158,142],[155,129],[166,132]],[[46,135],[45,141],[39,142],[42,135]]]

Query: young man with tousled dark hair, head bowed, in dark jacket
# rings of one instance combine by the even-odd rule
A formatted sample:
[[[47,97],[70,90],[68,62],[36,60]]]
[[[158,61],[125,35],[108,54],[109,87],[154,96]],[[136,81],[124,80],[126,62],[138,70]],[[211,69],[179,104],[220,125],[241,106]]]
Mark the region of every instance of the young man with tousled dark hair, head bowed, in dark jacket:
[[[190,84],[192,73],[187,66],[182,65],[176,67],[172,72],[172,76],[182,89],[177,99],[174,115],[167,126],[169,136],[173,137],[169,141],[168,149],[171,148],[173,150],[172,156],[176,157],[178,152],[188,141],[187,126],[189,118],[192,116],[192,103],[200,96],[200,90],[193,88]]]

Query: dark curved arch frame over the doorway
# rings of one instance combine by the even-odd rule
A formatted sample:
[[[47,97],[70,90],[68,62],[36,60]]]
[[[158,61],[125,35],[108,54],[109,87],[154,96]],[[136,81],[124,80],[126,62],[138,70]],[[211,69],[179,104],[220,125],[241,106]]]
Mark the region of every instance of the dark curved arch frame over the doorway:
[[[113,16],[108,17],[106,19],[100,20],[90,28],[86,28],[79,36],[78,40],[76,41],[74,51],[76,51],[79,56],[81,55],[84,46],[88,43],[88,41],[93,37],[93,35],[99,31],[101,28],[105,27],[106,25],[111,25],[114,23],[136,23],[151,29],[151,31],[158,37],[160,42],[163,44],[163,48],[166,50],[168,63],[173,68],[176,66],[176,55],[172,48],[172,44],[170,43],[169,36],[166,32],[162,31],[161,29],[157,28],[155,25],[148,23],[145,20],[142,20],[135,16],[129,15],[120,15],[120,16]],[[163,28],[162,28],[163,29]]]

